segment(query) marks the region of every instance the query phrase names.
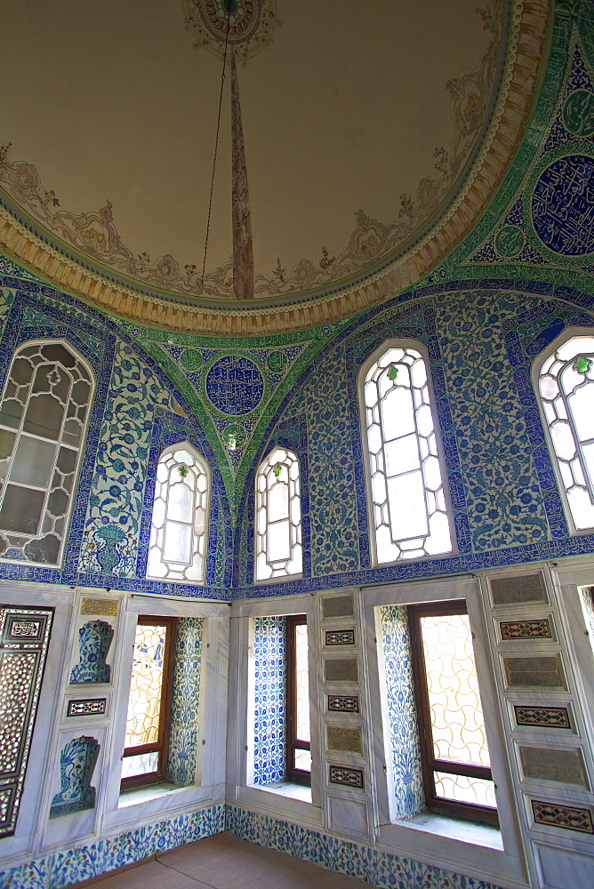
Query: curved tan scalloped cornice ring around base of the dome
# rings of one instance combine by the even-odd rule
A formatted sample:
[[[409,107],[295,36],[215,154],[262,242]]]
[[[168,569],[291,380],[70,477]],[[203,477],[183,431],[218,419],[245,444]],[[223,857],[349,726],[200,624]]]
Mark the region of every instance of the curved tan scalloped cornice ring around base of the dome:
[[[459,195],[429,233],[396,260],[357,284],[246,308],[160,298],[109,281],[60,253],[0,206],[0,247],[55,286],[119,316],[181,332],[250,336],[300,330],[350,316],[419,281],[467,236],[500,186],[524,134],[542,60],[550,0],[512,4],[502,83],[483,146]],[[343,289],[341,289],[341,286]]]

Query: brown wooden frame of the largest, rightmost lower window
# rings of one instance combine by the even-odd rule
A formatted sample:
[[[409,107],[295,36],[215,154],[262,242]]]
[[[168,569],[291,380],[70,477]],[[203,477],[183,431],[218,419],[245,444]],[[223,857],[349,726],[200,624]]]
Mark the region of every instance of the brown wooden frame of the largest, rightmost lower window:
[[[433,752],[433,733],[431,731],[431,715],[429,709],[429,692],[427,673],[423,654],[421,636],[421,618],[439,617],[454,614],[468,614],[464,599],[449,602],[427,602],[419,605],[408,605],[408,624],[411,637],[411,660],[414,678],[414,693],[419,723],[419,739],[421,743],[421,765],[425,788],[425,803],[433,812],[454,815],[470,821],[482,821],[486,824],[498,825],[497,810],[486,805],[461,803],[439,797],[436,794],[434,772],[454,775],[466,775],[470,778],[483,778],[493,781],[490,767],[486,765],[470,765],[455,763],[447,759],[436,759]]]

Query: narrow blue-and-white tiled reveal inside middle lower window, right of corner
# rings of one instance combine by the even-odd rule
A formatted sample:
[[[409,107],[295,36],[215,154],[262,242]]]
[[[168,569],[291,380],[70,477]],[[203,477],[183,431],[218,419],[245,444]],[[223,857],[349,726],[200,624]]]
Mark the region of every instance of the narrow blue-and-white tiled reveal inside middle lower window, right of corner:
[[[253,631],[253,783],[285,778],[286,619],[257,617]]]

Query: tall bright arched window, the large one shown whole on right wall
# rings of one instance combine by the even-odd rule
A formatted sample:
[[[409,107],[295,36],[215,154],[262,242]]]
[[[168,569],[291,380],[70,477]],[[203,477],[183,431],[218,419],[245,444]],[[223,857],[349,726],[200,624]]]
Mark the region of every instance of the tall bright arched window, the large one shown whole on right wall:
[[[452,550],[427,368],[408,343],[363,368],[371,521],[378,563]]]

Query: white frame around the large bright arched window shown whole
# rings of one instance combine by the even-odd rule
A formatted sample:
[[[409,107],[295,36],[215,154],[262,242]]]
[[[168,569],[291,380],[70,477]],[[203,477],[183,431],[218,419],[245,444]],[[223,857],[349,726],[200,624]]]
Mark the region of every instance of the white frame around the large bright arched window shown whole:
[[[429,393],[429,408],[431,411],[431,418],[433,420],[433,433],[435,435],[436,448],[437,448],[437,460],[439,461],[439,469],[441,473],[441,485],[443,490],[443,496],[446,503],[446,517],[447,523],[450,533],[450,549],[447,549],[443,553],[437,553],[435,555],[425,555],[425,556],[415,556],[411,558],[406,557],[397,557],[392,561],[380,561],[377,554],[377,542],[376,542],[376,533],[377,529],[374,521],[374,503],[373,503],[373,493],[372,493],[372,477],[371,477],[371,460],[369,453],[369,444],[367,438],[367,420],[366,420],[366,411],[365,407],[365,378],[370,368],[375,364],[381,356],[389,351],[391,348],[412,348],[416,352],[421,355],[422,360],[425,364],[425,370],[427,372],[427,387]],[[447,484],[447,467],[446,467],[446,458],[444,455],[443,445],[442,445],[442,435],[441,429],[439,427],[439,420],[437,417],[437,409],[436,409],[436,399],[433,392],[433,384],[431,380],[431,366],[429,363],[429,353],[427,349],[423,346],[419,340],[413,340],[407,337],[403,337],[401,339],[390,339],[384,340],[381,343],[381,346],[376,348],[373,351],[373,354],[367,358],[365,364],[362,364],[359,374],[358,374],[358,404],[359,404],[359,414],[361,421],[361,439],[363,445],[363,454],[364,454],[364,465],[365,465],[365,495],[367,501],[367,514],[368,514],[368,526],[369,526],[369,539],[370,539],[370,552],[372,556],[372,564],[373,566],[380,567],[381,565],[396,565],[396,564],[404,564],[408,562],[415,562],[421,560],[430,560],[443,558],[446,556],[451,556],[457,552],[456,547],[456,536],[454,530],[454,517],[452,510],[452,501],[449,495],[449,488]],[[415,420],[416,420],[416,411],[415,411]],[[426,487],[424,485],[425,477],[423,473],[423,493],[426,491]]]

